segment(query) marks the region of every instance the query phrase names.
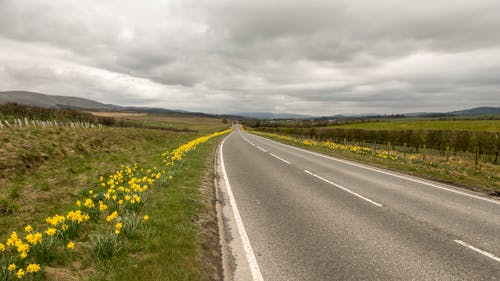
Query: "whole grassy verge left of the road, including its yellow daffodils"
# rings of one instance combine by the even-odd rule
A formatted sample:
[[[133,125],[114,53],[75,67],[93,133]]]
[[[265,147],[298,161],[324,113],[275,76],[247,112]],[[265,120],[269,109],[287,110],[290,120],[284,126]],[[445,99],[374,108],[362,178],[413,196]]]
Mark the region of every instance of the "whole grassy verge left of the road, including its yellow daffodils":
[[[216,280],[211,122],[0,129],[0,279]]]

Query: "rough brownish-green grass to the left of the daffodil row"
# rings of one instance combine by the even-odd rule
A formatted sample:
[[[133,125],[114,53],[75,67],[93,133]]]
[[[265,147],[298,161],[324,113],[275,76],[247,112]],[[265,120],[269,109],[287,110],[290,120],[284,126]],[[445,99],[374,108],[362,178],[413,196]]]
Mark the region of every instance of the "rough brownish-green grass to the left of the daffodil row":
[[[0,130],[0,135],[9,139],[0,145],[0,202],[9,202],[0,215],[0,238],[65,210],[121,164],[157,160],[166,149],[197,136],[135,128],[29,128]]]

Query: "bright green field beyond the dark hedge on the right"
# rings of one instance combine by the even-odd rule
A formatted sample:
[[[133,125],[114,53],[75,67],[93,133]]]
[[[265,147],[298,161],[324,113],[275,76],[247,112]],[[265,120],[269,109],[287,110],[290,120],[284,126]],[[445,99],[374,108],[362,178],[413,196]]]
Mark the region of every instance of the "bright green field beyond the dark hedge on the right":
[[[332,128],[351,128],[367,130],[465,130],[500,132],[500,120],[415,120],[403,119],[382,122],[367,122],[332,126]]]

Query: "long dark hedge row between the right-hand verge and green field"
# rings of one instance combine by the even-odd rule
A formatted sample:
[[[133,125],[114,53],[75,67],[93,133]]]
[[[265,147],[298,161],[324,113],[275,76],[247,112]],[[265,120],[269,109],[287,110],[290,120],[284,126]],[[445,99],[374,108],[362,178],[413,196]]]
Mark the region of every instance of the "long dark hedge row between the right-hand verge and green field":
[[[362,130],[326,128],[257,128],[259,131],[285,134],[301,139],[330,140],[339,144],[359,145],[374,150],[403,154],[464,157],[478,162],[498,164],[500,139],[496,132],[452,130]]]

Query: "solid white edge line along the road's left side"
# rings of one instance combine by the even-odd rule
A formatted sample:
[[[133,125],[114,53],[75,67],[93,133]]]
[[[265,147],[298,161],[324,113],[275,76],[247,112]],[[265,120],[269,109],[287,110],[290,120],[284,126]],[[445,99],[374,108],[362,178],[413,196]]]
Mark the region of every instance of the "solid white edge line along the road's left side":
[[[253,253],[252,245],[250,244],[250,240],[248,239],[245,226],[243,225],[243,221],[241,220],[240,212],[238,211],[238,206],[236,205],[236,200],[234,199],[233,191],[231,190],[231,185],[229,184],[229,179],[227,177],[226,166],[224,164],[224,156],[222,153],[222,149],[224,148],[224,142],[226,142],[226,139],[227,137],[222,141],[220,145],[222,177],[224,178],[224,184],[226,185],[226,191],[229,197],[229,203],[231,204],[231,209],[233,210],[234,219],[236,221],[236,227],[238,228],[238,232],[241,237],[241,242],[243,243],[243,248],[245,250],[245,255],[247,257],[248,265],[250,266],[250,271],[252,273],[253,280],[264,281],[264,278],[262,278],[262,273],[260,272],[259,269],[259,264],[257,263],[257,259],[255,258],[255,254]]]

